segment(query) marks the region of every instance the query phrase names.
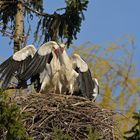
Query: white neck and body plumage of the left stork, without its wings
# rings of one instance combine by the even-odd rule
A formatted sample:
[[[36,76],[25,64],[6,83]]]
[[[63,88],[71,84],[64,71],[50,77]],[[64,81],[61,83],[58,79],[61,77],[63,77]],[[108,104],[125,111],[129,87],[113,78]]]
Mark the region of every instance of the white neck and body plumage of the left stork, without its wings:
[[[52,60],[50,64],[46,63],[46,67],[40,75],[41,89],[40,92],[47,92],[49,89],[54,88],[56,92],[61,93],[61,83],[59,80],[60,62],[58,59],[59,46],[56,45],[58,52],[52,51]]]

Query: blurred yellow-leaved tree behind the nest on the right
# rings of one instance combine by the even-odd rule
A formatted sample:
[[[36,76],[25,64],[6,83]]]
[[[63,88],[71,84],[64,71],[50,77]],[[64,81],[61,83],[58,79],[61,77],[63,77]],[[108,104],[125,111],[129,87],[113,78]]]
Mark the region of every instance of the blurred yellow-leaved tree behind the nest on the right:
[[[133,36],[120,37],[105,47],[88,42],[74,47],[75,52],[84,57],[93,77],[99,80],[100,95],[97,103],[117,112],[118,128],[123,136],[135,124],[132,116],[139,109],[140,100],[140,77],[135,76],[133,62]]]

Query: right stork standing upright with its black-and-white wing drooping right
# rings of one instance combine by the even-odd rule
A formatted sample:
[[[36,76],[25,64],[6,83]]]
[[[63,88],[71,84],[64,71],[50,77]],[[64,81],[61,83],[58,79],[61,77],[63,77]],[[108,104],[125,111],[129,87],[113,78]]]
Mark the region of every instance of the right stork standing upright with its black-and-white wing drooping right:
[[[69,58],[64,45],[60,44],[60,48],[60,77],[61,83],[65,83],[63,88],[67,88],[71,94],[80,93],[80,96],[95,100],[99,93],[99,85],[97,79],[92,79],[87,63],[78,54]]]

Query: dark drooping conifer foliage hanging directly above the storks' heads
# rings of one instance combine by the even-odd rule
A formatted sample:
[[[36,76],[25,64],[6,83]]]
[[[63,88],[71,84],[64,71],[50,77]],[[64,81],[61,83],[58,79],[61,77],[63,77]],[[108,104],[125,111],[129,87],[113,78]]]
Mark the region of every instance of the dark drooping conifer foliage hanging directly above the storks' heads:
[[[87,10],[88,0],[66,0],[66,7],[57,9],[53,15],[46,14],[38,22],[35,32],[37,39],[39,29],[41,29],[40,39],[44,36],[44,41],[67,39],[69,45],[80,32],[81,22],[84,20],[83,11]],[[57,11],[64,11],[59,14]]]

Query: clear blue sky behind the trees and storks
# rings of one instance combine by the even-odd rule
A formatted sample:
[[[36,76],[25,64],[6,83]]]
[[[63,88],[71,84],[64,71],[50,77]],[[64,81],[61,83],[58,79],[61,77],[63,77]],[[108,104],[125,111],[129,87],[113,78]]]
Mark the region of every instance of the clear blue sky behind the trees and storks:
[[[45,10],[53,13],[54,9],[65,6],[64,0],[45,0]],[[136,72],[140,76],[140,0],[89,0],[85,21],[81,31],[74,40],[74,45],[91,42],[105,46],[108,42],[126,34],[135,38]],[[32,42],[29,42],[29,44]],[[12,54],[7,37],[0,35],[0,58],[8,58]]]

